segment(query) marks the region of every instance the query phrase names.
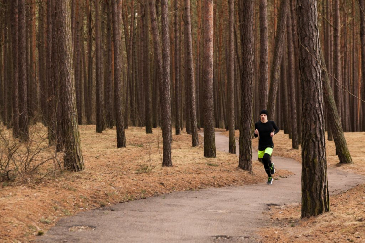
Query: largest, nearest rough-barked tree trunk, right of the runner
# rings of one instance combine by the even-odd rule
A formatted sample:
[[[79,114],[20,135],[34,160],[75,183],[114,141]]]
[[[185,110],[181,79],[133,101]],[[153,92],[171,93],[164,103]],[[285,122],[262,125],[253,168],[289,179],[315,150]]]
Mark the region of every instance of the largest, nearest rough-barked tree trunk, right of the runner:
[[[298,0],[302,111],[302,210],[310,217],[329,211],[317,0]]]

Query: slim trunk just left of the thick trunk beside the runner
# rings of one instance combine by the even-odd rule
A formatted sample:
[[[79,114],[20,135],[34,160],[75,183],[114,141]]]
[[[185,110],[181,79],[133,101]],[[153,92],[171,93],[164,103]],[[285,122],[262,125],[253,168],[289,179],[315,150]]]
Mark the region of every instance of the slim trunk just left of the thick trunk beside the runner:
[[[229,144],[228,152],[236,154],[236,139],[235,139],[235,103],[234,103],[234,84],[235,84],[235,73],[234,73],[234,6],[233,0],[228,0],[229,6],[229,21],[228,21],[228,129],[229,129]]]

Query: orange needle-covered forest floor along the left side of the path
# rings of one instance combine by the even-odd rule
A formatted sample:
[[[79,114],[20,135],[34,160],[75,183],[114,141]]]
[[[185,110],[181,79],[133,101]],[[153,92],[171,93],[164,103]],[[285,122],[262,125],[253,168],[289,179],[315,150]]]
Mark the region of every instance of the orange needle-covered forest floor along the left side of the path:
[[[254,174],[238,169],[237,156],[217,151],[203,157],[203,146],[191,147],[191,136],[173,135],[173,166],[161,164],[161,130],[153,134],[130,127],[127,147],[116,148],[116,131],[95,133],[95,126],[80,126],[86,169],[62,172],[40,182],[0,184],[0,242],[31,242],[63,217],[93,208],[109,207],[172,191],[255,184],[266,181],[262,165]],[[200,144],[203,138],[200,137]],[[291,173],[281,170],[280,177]]]

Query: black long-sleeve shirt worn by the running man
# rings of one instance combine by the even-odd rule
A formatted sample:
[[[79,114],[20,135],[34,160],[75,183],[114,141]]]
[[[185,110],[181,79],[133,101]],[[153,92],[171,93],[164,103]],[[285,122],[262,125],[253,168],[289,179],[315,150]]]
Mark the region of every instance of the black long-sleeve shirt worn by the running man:
[[[258,130],[258,134],[254,133],[254,137],[258,139],[258,150],[264,151],[266,148],[274,148],[273,137],[270,136],[270,133],[274,131],[274,135],[277,134],[280,129],[276,126],[274,121],[268,120],[266,123],[262,123],[261,121],[256,122],[255,130]]]

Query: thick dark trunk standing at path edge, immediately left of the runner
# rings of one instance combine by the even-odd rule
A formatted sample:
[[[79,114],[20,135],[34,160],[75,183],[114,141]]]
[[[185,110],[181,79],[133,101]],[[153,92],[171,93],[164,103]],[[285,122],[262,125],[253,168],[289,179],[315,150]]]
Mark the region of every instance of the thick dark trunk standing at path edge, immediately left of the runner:
[[[254,0],[241,0],[242,11],[242,73],[241,125],[239,129],[239,168],[252,173],[252,95],[254,81]]]

